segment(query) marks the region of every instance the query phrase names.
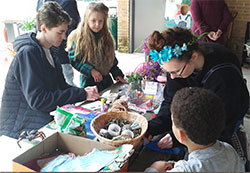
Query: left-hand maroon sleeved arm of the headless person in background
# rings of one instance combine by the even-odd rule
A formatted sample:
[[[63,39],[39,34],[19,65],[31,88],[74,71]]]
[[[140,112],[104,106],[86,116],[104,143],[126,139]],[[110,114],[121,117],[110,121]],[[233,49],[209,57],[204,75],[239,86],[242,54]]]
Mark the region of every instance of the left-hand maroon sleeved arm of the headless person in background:
[[[211,31],[211,28],[208,26],[208,24],[205,22],[205,17],[202,15],[202,9],[200,8],[199,1],[198,0],[192,0],[191,2],[191,15],[193,19],[193,25],[195,25],[197,28],[199,28],[199,33],[209,32]]]

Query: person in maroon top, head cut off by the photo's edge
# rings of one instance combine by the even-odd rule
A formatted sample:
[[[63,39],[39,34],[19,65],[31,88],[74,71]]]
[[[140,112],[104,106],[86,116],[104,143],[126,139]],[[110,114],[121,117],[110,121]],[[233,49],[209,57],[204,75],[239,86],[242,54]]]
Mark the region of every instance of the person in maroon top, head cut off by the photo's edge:
[[[232,21],[231,13],[224,0],[192,0],[192,31],[196,36],[204,32],[209,32],[207,39],[211,42],[225,44],[225,34],[227,27]]]

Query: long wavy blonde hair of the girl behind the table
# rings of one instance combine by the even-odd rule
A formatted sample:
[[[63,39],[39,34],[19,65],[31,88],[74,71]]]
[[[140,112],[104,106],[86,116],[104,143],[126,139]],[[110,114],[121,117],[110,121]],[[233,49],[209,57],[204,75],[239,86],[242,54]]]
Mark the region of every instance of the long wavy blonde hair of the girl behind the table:
[[[75,58],[79,58],[82,63],[91,59],[105,58],[105,61],[112,63],[114,59],[114,40],[108,30],[108,7],[103,3],[90,3],[85,11],[84,20],[71,32],[67,41],[67,49],[70,50],[72,42],[75,43]],[[92,12],[103,14],[104,23],[100,32],[100,38],[96,44],[96,39],[88,26],[88,21]]]

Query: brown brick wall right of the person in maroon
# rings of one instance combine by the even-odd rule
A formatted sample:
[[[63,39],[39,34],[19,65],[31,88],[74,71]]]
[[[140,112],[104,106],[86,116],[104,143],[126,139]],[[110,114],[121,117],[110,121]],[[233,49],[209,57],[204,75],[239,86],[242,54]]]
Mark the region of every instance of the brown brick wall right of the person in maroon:
[[[231,13],[238,12],[238,16],[233,22],[232,37],[228,42],[228,47],[242,61],[241,56],[245,41],[246,25],[250,21],[250,0],[225,0],[225,2]]]

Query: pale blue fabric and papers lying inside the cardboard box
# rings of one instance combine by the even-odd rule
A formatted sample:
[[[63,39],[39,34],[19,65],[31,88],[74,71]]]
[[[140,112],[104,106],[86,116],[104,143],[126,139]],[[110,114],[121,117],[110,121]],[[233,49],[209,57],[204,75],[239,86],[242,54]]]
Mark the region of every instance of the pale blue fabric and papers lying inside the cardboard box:
[[[37,172],[114,172],[122,169],[133,151],[131,144],[121,145],[114,150],[93,148],[83,155],[55,151],[24,165]]]

